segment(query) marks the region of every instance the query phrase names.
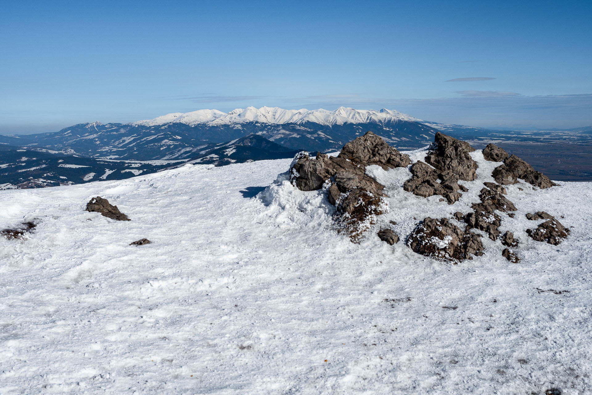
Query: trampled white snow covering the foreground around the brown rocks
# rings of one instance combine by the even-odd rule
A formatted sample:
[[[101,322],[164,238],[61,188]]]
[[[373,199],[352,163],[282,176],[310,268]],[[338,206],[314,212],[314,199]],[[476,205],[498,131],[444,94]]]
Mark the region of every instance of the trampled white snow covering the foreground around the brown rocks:
[[[472,155],[479,179],[453,205],[370,166],[390,213],[360,244],[329,229],[323,191],[278,177],[289,159],[0,191],[0,229],[37,223],[0,237],[0,393],[590,393],[592,183],[508,187],[519,264],[487,237],[458,265],[404,245],[478,201],[498,163]],[[131,221],[84,211],[95,196]],[[539,210],[565,217],[561,245],[526,235]],[[386,226],[403,240],[381,242]]]

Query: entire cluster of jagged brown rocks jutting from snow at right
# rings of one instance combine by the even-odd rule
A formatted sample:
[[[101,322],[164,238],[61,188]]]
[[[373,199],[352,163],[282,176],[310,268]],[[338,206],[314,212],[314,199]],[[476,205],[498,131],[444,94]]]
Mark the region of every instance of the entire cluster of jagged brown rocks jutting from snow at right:
[[[462,196],[459,191],[468,191],[458,181],[477,179],[477,163],[469,155],[473,151],[474,148],[468,143],[437,133],[435,143],[426,156],[427,163],[418,160],[410,166],[412,176],[404,182],[404,190],[421,197],[441,195],[449,204],[455,203]],[[514,218],[515,213],[511,211],[517,210],[516,205],[507,198],[508,191],[503,185],[517,182],[516,178],[523,178],[541,188],[556,184],[517,156],[509,156],[495,144],[488,144],[483,155],[487,160],[503,161],[503,164],[492,173],[497,182],[483,182],[484,187],[479,194],[481,201],[471,204],[472,211],[467,214],[456,211],[453,214],[453,219],[466,224],[465,229],[461,230],[446,218],[427,217],[406,239],[406,245],[413,251],[455,261],[471,259],[472,255],[481,256],[481,236],[471,230],[478,229],[487,233],[491,240],[499,240],[507,247],[503,256],[510,262],[520,261],[516,253],[510,250],[518,246],[514,233],[508,230],[501,235],[499,230],[502,223],[500,213],[507,213],[508,217]],[[318,153],[313,159],[301,153],[292,162],[290,179],[293,185],[303,191],[321,188],[327,191],[327,199],[336,205],[334,229],[348,234],[352,242],[359,242],[362,233],[376,223],[376,217],[388,210],[383,199],[386,197],[384,186],[365,174],[366,166],[379,165],[383,169],[392,169],[409,163],[407,155],[401,154],[380,137],[368,132],[345,144],[336,158]],[[556,245],[569,233],[568,229],[545,211],[526,216],[531,220],[547,220],[536,229],[527,231],[535,240]],[[397,243],[399,238],[392,229],[381,229],[377,235],[390,245]]]

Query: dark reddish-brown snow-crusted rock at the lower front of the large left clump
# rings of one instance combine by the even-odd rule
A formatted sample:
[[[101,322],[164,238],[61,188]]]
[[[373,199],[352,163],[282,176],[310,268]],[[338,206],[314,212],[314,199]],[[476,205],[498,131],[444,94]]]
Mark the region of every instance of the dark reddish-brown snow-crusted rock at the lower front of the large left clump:
[[[348,235],[354,243],[358,243],[362,233],[376,223],[377,216],[388,211],[388,204],[382,197],[360,189],[342,195],[336,207],[333,227],[337,233]]]

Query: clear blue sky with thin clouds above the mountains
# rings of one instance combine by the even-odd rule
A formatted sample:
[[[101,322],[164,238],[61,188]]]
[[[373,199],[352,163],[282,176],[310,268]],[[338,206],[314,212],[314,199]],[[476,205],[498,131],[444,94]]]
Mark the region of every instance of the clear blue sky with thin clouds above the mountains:
[[[200,108],[592,125],[592,2],[7,2],[0,133]]]

